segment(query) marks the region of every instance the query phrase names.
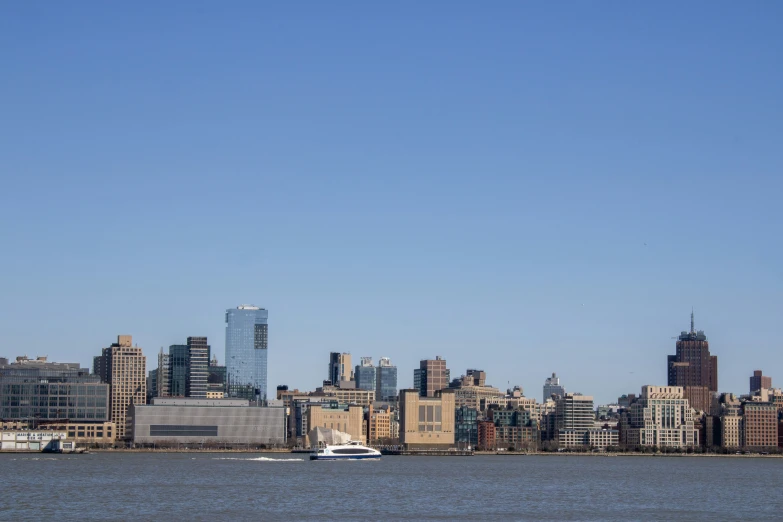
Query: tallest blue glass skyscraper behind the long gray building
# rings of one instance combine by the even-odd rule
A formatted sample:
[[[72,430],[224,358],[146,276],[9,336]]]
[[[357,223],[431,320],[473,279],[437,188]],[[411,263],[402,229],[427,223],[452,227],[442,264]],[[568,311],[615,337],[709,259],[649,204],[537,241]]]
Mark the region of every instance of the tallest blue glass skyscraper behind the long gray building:
[[[252,305],[226,310],[226,379],[230,397],[266,400],[269,312]]]

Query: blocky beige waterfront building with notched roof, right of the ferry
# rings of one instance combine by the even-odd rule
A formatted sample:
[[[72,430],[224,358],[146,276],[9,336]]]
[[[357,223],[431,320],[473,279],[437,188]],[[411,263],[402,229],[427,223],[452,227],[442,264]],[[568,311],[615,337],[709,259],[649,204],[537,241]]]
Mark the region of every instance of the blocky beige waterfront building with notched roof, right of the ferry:
[[[408,449],[454,446],[454,390],[421,397],[419,390],[400,391],[400,443]]]

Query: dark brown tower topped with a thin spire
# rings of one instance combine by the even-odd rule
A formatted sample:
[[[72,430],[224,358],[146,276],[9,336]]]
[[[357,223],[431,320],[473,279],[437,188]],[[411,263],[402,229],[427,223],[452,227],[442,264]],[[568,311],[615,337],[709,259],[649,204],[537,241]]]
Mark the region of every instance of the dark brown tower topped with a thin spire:
[[[682,386],[685,398],[696,410],[709,412],[711,392],[718,391],[718,358],[702,330],[696,331],[691,312],[691,331],[682,332],[677,353],[668,356],[669,386]]]

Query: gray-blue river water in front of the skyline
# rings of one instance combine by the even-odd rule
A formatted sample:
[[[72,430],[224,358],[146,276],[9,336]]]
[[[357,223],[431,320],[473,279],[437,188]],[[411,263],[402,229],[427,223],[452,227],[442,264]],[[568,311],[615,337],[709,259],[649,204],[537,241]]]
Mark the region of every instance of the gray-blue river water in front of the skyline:
[[[0,520],[783,519],[783,459],[0,455]]]

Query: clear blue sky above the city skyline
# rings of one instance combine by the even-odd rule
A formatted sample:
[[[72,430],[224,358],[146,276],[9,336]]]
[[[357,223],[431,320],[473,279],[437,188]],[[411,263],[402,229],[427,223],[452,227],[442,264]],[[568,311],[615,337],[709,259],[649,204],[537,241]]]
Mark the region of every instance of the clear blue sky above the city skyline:
[[[783,385],[783,4],[6,2],[0,355],[91,364],[269,309],[328,352],[540,399]]]

